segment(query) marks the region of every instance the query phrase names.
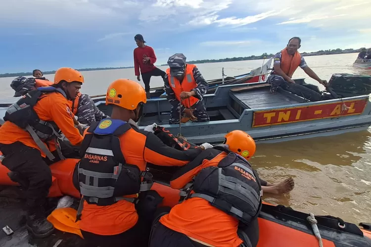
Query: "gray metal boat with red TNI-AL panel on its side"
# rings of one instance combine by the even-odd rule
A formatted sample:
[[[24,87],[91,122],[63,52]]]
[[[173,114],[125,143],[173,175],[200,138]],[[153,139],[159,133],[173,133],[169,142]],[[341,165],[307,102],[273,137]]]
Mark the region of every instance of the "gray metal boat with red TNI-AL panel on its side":
[[[296,82],[303,84],[304,79]],[[369,95],[312,102],[280,88],[277,94],[269,91],[270,85],[265,82],[221,85],[204,97],[210,122],[188,122],[181,128],[168,124],[171,106],[166,98],[149,99],[139,126],[157,123],[199,144],[222,142],[224,135],[234,129],[248,132],[256,141],[277,142],[359,131],[371,125]],[[95,101],[98,108],[110,114],[104,98]]]

